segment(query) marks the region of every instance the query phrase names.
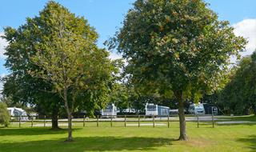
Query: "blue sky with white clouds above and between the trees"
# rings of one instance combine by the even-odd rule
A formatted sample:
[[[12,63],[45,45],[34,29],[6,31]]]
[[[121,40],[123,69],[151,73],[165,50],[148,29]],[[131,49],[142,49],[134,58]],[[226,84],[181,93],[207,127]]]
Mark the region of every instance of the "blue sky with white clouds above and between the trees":
[[[3,35],[3,28],[11,26],[17,29],[18,26],[26,23],[26,18],[38,16],[39,11],[46,6],[47,0],[1,0],[0,1],[0,36]],[[94,26],[99,34],[98,47],[104,48],[103,42],[117,31],[117,27],[122,27],[124,15],[135,0],[59,0],[76,16],[84,16],[90,26]],[[210,3],[211,10],[218,13],[218,20],[229,21],[230,26],[235,28],[236,36],[248,38],[246,52],[242,56],[251,54],[256,48],[256,1],[255,0],[205,0]],[[5,66],[4,47],[8,43],[0,38],[0,77],[10,74]],[[113,51],[110,58],[121,58]],[[235,59],[231,58],[234,62]],[[2,84],[0,83],[0,90]]]

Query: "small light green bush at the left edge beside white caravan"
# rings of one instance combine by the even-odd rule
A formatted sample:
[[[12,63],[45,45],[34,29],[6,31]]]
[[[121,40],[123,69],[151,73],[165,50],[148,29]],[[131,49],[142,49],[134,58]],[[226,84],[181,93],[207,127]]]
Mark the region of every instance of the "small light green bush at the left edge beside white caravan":
[[[10,114],[5,102],[0,102],[0,124],[4,126],[10,125]]]

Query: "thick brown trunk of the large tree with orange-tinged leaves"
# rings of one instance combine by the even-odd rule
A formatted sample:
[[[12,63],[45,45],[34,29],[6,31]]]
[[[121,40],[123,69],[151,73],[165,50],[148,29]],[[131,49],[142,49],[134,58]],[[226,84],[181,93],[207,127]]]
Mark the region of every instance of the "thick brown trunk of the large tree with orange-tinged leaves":
[[[186,119],[184,114],[184,105],[182,102],[182,91],[174,91],[175,97],[178,101],[178,117],[179,117],[179,130],[180,130],[180,136],[178,140],[185,140],[188,141],[189,138],[186,134]]]

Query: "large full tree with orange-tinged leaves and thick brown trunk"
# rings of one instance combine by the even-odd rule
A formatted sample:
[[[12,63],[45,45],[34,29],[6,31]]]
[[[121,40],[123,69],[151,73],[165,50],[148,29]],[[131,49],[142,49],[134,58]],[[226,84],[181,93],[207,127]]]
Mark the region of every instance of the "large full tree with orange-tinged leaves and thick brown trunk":
[[[134,85],[174,93],[178,101],[180,140],[188,140],[185,98],[202,97],[226,82],[230,55],[243,51],[246,40],[234,35],[227,21],[202,0],[137,0],[123,26],[108,41],[127,59],[126,74]],[[239,57],[239,56],[238,56]]]

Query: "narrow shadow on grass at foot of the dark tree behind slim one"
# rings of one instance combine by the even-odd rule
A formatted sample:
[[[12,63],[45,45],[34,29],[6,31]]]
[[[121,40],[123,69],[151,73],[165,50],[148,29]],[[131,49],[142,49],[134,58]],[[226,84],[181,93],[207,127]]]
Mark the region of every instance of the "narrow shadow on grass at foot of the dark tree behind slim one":
[[[74,128],[74,130],[82,130],[82,128]],[[39,134],[66,134],[68,129],[51,130],[51,128],[44,127],[30,127],[30,128],[1,128],[1,136],[13,136],[13,135],[39,135]]]

